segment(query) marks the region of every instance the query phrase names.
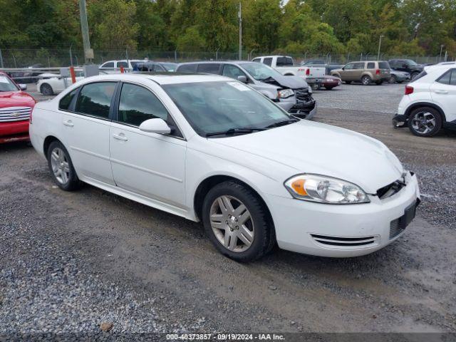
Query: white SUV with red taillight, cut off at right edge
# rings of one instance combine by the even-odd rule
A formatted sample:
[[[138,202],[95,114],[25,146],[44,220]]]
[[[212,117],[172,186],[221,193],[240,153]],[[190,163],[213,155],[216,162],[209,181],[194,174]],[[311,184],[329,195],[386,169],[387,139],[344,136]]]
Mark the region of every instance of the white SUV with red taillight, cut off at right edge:
[[[442,128],[456,129],[456,63],[428,66],[409,83],[393,125],[408,125],[421,137],[432,137]]]

